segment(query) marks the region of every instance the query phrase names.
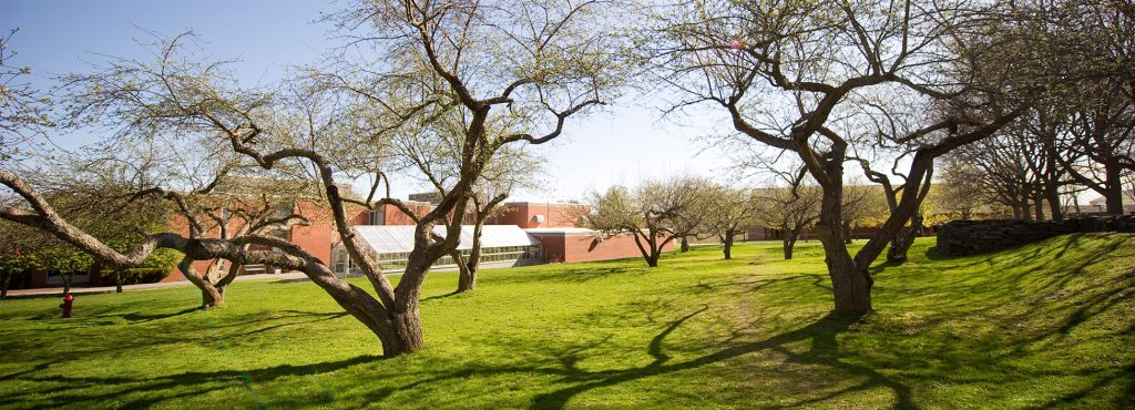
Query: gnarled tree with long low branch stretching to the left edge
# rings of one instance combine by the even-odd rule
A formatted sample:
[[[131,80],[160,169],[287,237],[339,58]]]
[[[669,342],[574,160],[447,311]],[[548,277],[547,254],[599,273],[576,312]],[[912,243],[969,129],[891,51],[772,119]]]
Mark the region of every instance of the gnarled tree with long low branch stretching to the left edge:
[[[180,53],[179,41],[165,42],[158,61],[115,60],[106,69],[76,78],[90,85],[81,110],[143,139],[154,133],[200,133],[219,137],[230,152],[263,169],[308,171],[322,185],[335,229],[375,294],[335,277],[327,262],[278,237],[249,234],[230,240],[193,239],[175,233],[150,235],[119,253],[61,218],[51,203],[18,174],[0,171],[0,183],[24,206],[0,209],[0,218],[35,226],[119,266],[134,266],[155,248],[182,251],[194,260],[267,263],[300,270],[381,341],[384,354],[397,355],[423,344],[419,299],[430,266],[460,239],[472,186],[486,160],[510,144],[541,144],[558,137],[569,118],[609,99],[621,76],[611,50],[619,37],[604,26],[613,5],[558,1],[453,3],[359,1],[334,16],[359,61],[333,65],[334,75],[311,70],[311,86],[279,95],[244,90],[228,81],[224,65]],[[338,59],[343,61],[344,59]],[[102,80],[110,81],[103,82]],[[115,87],[101,86],[115,84]],[[283,87],[281,87],[283,89]],[[428,127],[439,111],[462,107],[459,177],[439,203],[417,216],[401,201],[375,198],[385,177],[381,162],[389,139]],[[516,116],[514,132],[491,136],[495,118]],[[389,170],[389,169],[386,169]],[[337,177],[376,173],[364,199],[344,195]],[[380,174],[379,174],[380,173]],[[414,244],[397,286],[379,269],[346,214],[348,204],[393,206],[415,220]],[[246,250],[245,244],[280,252]]]

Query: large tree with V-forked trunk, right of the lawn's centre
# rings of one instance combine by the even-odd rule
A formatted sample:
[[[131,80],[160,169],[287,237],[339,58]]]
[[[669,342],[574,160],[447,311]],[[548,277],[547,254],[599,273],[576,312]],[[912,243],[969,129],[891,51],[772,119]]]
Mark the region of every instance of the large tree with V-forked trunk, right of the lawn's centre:
[[[690,1],[654,9],[648,53],[658,78],[683,95],[675,107],[717,107],[737,133],[804,162],[822,189],[816,231],[834,310],[861,315],[872,310],[868,267],[909,220],[934,159],[1024,111],[1000,81],[1011,69],[990,66],[1004,42],[989,39],[1002,27],[976,17],[992,7]],[[908,110],[918,115],[910,122],[917,126],[873,129],[882,123],[863,108],[896,98],[924,108]],[[906,187],[881,229],[852,254],[841,209],[844,166],[875,144],[909,150]]]

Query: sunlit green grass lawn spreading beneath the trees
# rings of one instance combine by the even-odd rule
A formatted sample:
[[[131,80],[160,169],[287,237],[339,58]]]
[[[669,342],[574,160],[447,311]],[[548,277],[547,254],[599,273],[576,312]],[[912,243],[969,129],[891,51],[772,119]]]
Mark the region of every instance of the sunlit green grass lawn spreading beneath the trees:
[[[0,302],[0,407],[1133,408],[1135,235],[874,268],[877,313],[826,318],[815,243],[432,274],[427,348],[380,344],[310,283]],[[356,282],[364,285],[363,281]]]

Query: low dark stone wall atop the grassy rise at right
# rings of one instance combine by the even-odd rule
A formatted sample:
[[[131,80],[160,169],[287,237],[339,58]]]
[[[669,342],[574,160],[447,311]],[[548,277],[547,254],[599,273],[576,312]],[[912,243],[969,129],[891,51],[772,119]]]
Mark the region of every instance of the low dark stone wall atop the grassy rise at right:
[[[1063,221],[955,220],[938,232],[938,252],[974,254],[1084,232],[1135,233],[1135,215],[1066,219]]]

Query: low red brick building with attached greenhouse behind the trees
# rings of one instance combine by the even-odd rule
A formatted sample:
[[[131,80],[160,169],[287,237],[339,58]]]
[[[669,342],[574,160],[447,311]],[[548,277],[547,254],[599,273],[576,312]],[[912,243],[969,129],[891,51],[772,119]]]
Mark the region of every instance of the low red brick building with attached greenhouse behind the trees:
[[[403,201],[411,211],[424,216],[434,209],[438,198],[430,194],[411,195],[410,201]],[[485,267],[522,266],[549,262],[579,262],[640,257],[634,239],[630,235],[605,236],[597,231],[582,227],[583,216],[590,208],[579,203],[545,203],[545,202],[507,202],[501,206],[499,212],[485,225],[481,235],[481,263]],[[348,217],[354,224],[354,231],[367,246],[371,256],[382,269],[398,271],[405,267],[409,252],[413,249],[413,219],[394,206],[381,206],[375,210],[361,207],[348,207]],[[218,209],[220,212],[228,212]],[[328,265],[338,275],[353,273],[355,269],[339,241],[330,211],[322,203],[300,201],[291,206],[281,206],[281,215],[300,214],[310,220],[308,226],[292,226],[271,233],[285,241],[295,243]],[[471,216],[466,214],[466,220]],[[188,235],[188,224],[177,214],[171,214],[169,220],[171,232]],[[444,235],[442,226],[435,231]],[[217,237],[217,232],[205,234],[205,237]],[[462,228],[457,250],[469,256],[472,245],[472,227]],[[253,248],[257,249],[257,248]],[[268,248],[260,248],[268,249]],[[672,250],[673,244],[666,250]],[[211,261],[201,260],[193,263],[197,270],[209,268]],[[449,257],[444,257],[435,267],[455,266]],[[73,286],[103,286],[98,266],[87,273],[73,276]],[[276,273],[271,266],[245,265],[241,274]],[[161,282],[186,281],[178,269],[174,269]],[[57,276],[33,270],[25,283],[17,287],[58,286]]]

